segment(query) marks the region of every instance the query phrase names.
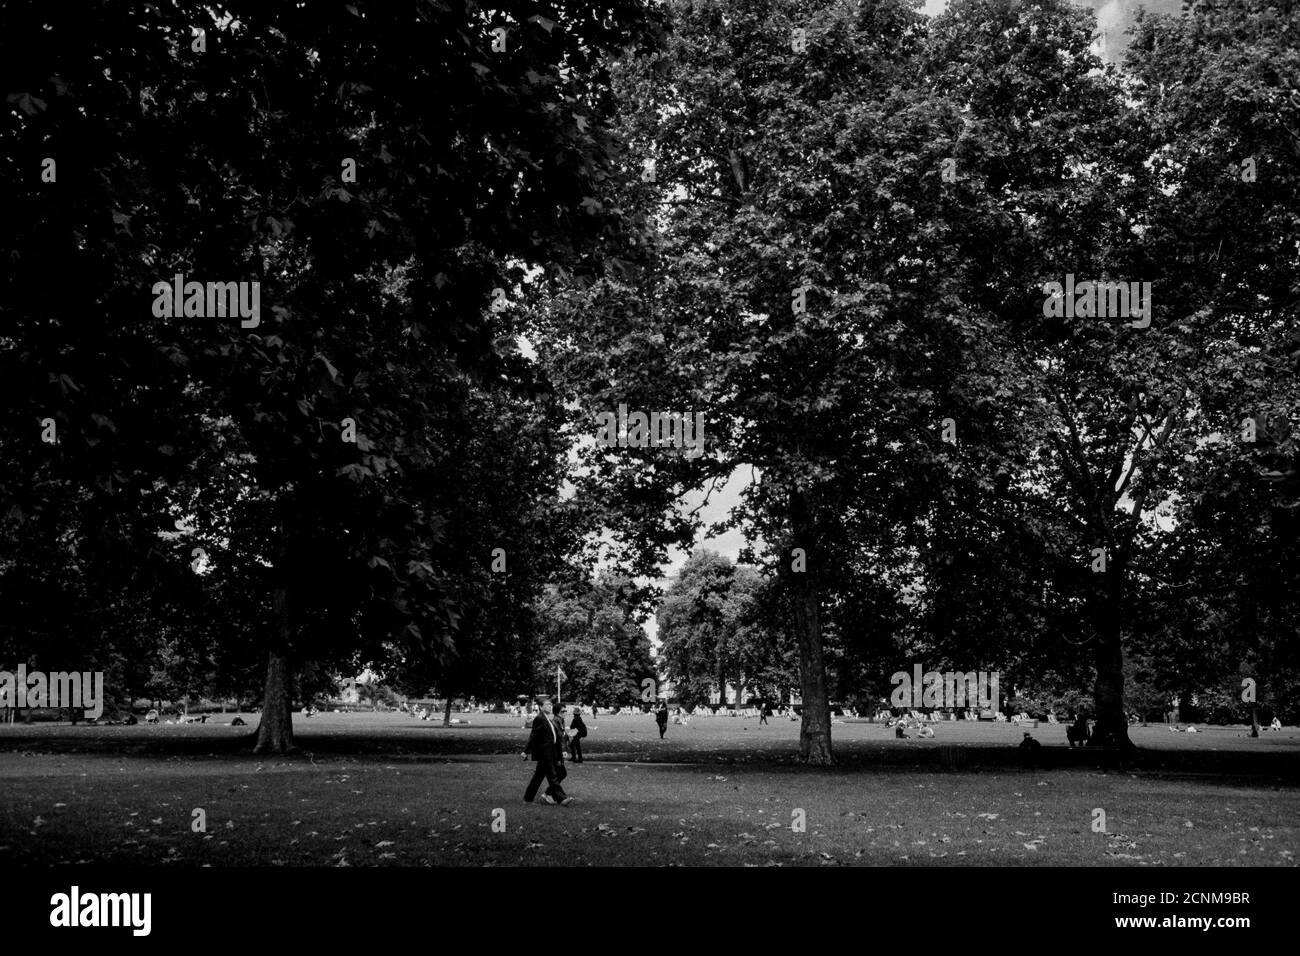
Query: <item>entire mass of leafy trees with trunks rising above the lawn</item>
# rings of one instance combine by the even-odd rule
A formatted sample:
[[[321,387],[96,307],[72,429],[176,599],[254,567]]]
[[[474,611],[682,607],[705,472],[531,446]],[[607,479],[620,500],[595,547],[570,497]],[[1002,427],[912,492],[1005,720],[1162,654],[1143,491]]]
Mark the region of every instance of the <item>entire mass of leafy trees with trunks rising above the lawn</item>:
[[[263,750],[364,667],[630,702],[653,611],[682,695],[797,683],[814,763],[900,652],[1076,688],[1104,744],[1147,693],[1295,711],[1291,4],[1119,73],[1066,0],[6,21],[4,663],[259,688]],[[1152,321],[1045,316],[1067,273]],[[260,324],[156,316],[176,274]],[[620,405],[705,454],[594,442]],[[660,601],[728,481],[741,563]]]

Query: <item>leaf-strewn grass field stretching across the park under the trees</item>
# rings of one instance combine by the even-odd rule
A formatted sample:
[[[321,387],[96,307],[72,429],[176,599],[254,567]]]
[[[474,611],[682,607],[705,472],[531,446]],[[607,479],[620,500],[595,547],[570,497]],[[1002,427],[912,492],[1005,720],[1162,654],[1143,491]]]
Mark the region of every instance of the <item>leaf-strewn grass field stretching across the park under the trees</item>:
[[[800,767],[798,724],[588,721],[569,806],[524,804],[519,718],[295,715],[302,753],[256,757],[250,727],[0,727],[0,852],[18,865],[1097,865],[1294,866],[1300,731],[1170,734],[1020,761],[1022,730],[940,723],[935,740],[837,723],[838,766]],[[941,745],[961,748],[957,769]],[[207,829],[195,832],[194,810]],[[1105,832],[1093,831],[1095,810]],[[503,812],[503,817],[498,810]],[[806,822],[802,832],[792,829]],[[504,822],[494,829],[494,818]]]

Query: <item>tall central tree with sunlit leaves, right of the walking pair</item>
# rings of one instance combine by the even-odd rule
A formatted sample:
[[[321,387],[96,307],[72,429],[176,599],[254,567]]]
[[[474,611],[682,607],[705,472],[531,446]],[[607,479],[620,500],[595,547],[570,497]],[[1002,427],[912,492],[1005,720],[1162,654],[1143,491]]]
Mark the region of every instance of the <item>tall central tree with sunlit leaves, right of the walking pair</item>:
[[[664,55],[619,87],[630,152],[655,163],[654,182],[629,177],[620,194],[653,209],[644,268],[556,302],[543,354],[589,414],[703,414],[699,458],[594,450],[594,479],[629,512],[645,514],[651,489],[744,468],[732,518],[786,592],[801,754],[828,763],[824,600],[892,523],[870,509],[848,522],[854,536],[845,511],[897,486],[888,463],[911,436],[885,382],[922,307],[915,225],[940,209],[916,170],[937,135],[915,70],[923,21],[890,1],[670,7]],[[653,516],[627,525],[650,541],[663,531]]]

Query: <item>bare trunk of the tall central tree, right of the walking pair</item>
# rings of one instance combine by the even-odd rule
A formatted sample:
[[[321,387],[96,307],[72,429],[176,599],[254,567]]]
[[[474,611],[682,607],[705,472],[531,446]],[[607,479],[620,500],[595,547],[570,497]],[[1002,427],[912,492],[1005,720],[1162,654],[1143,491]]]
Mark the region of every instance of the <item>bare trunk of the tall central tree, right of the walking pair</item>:
[[[831,709],[826,691],[826,662],[822,657],[822,601],[816,578],[820,557],[812,546],[815,527],[807,496],[796,486],[790,493],[792,546],[802,548],[806,566],[793,571],[786,554],[785,571],[794,597],[794,627],[800,645],[800,693],[803,719],[800,724],[800,760],[814,766],[831,766]]]

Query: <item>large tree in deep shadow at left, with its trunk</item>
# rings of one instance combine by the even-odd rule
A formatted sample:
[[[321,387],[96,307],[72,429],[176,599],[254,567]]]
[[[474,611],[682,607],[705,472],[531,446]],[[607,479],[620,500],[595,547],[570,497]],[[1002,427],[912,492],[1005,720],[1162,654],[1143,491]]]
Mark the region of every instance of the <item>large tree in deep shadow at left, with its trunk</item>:
[[[592,200],[614,152],[602,77],[644,12],[5,13],[22,38],[0,157],[18,224],[0,280],[6,520],[62,531],[61,502],[86,496],[116,519],[96,533],[139,548],[221,473],[213,423],[229,425],[256,514],[222,528],[228,559],[269,618],[257,748],[287,749],[306,662],[455,644],[438,567],[467,555],[438,554],[424,490],[445,437],[471,429],[464,377],[515,373],[493,290],[534,263],[580,273],[619,230]],[[260,316],[151,308],[178,273],[259,282]]]

